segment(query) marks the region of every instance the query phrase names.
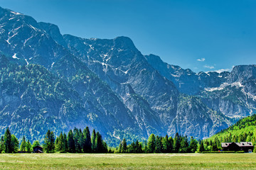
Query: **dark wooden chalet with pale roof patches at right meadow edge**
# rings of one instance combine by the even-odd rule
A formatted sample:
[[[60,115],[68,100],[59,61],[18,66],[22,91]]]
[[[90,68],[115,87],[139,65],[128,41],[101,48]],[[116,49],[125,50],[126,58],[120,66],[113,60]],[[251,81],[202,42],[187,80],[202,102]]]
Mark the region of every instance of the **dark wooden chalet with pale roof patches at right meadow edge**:
[[[249,152],[253,150],[252,142],[225,142],[221,143],[223,151],[244,151]]]

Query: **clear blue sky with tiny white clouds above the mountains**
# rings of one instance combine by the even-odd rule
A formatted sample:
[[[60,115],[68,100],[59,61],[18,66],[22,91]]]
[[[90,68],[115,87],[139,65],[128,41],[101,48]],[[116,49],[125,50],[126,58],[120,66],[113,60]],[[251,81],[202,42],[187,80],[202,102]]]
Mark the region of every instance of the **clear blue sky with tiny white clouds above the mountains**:
[[[127,36],[194,72],[256,64],[255,0],[0,0],[82,38]]]

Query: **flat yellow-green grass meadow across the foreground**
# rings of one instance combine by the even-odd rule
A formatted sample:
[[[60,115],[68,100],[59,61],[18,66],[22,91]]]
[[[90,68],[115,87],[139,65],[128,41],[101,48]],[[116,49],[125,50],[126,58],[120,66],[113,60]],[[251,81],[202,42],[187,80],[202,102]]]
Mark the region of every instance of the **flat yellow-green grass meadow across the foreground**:
[[[0,169],[256,169],[256,154],[0,154]]]

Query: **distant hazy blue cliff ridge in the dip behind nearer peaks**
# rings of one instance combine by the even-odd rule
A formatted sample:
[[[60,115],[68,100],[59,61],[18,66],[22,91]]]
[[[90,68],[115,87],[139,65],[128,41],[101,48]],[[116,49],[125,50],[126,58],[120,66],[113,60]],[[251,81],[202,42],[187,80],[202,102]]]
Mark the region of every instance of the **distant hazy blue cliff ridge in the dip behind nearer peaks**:
[[[182,69],[167,64],[156,55],[146,55],[145,58],[162,76],[173,81],[181,93],[188,95],[198,94],[207,87],[220,86],[230,74],[229,72],[199,72],[196,74],[191,69]]]

